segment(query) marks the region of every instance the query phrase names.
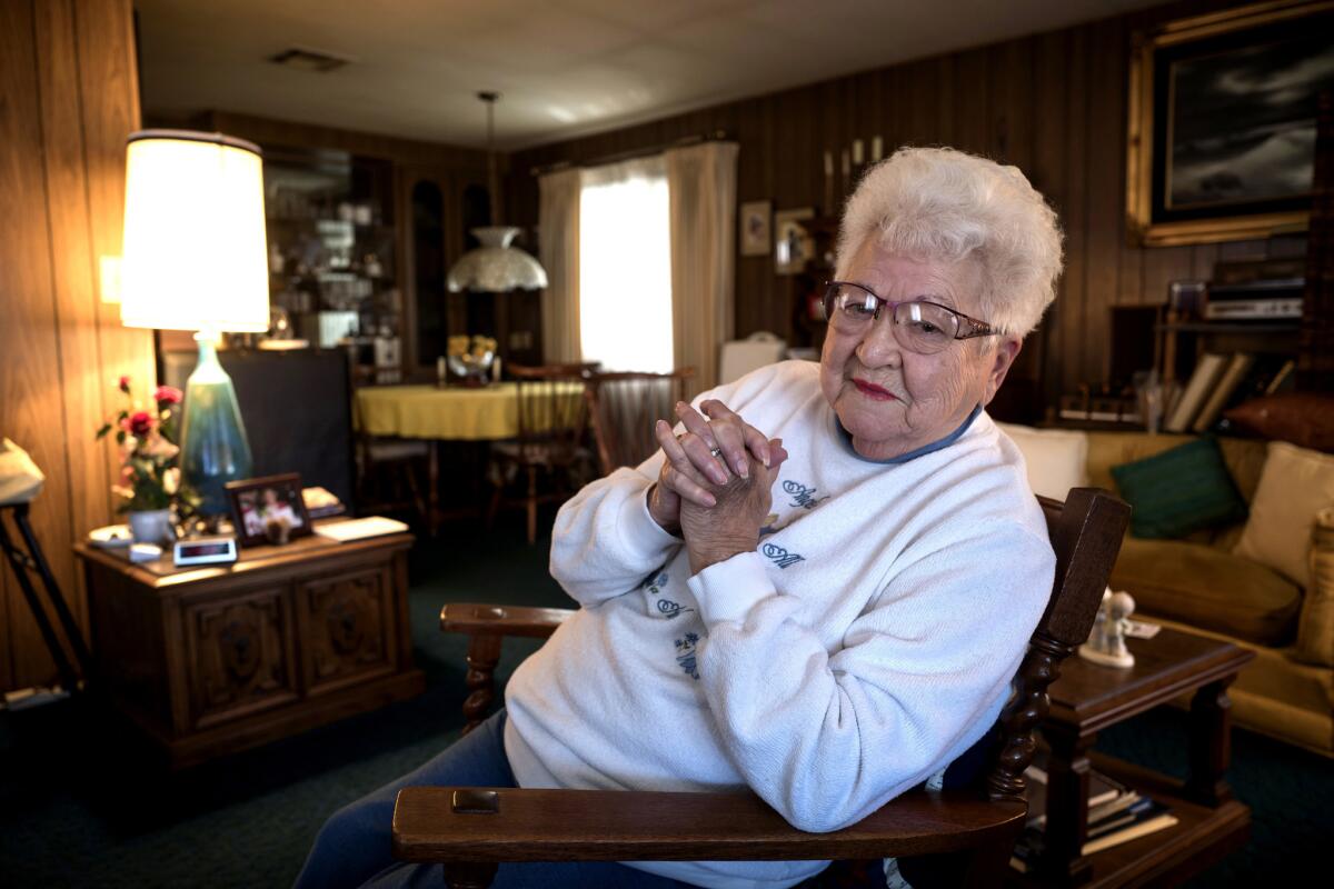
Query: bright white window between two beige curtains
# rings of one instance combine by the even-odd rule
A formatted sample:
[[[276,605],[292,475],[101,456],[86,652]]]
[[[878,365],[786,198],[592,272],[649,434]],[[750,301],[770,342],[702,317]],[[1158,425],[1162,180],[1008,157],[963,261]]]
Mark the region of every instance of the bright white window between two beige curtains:
[[[671,371],[671,235],[662,157],[584,171],[579,336],[608,371]]]

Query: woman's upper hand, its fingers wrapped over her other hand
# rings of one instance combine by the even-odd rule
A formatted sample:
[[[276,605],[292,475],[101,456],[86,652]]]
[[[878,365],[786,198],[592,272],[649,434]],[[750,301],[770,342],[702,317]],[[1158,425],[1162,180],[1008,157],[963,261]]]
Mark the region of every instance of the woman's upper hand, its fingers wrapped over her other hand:
[[[772,461],[768,439],[740,415],[716,399],[699,407],[710,420],[684,401],[676,403],[676,417],[686,427],[679,437],[666,420],[654,427],[667,460],[648,492],[648,514],[674,534],[680,530],[683,500],[712,506],[716,501],[710,486],[727,484],[732,473],[747,477],[750,456],[766,466]],[[714,448],[720,450],[716,457],[711,453]]]

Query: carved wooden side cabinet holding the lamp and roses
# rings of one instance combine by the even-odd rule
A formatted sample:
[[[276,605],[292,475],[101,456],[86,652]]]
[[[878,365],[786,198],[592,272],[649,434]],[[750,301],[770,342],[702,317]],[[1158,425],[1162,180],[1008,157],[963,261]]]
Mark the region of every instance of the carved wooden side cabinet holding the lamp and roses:
[[[172,766],[414,697],[411,545],[313,536],[177,569],[76,544],[97,685]]]

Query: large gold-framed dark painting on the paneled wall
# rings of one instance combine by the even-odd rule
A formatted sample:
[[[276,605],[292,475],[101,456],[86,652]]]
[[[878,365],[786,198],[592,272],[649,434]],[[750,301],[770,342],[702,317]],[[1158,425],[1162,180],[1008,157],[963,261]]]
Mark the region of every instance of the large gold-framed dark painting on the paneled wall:
[[[1334,3],[1279,0],[1135,35],[1126,141],[1133,243],[1205,244],[1306,227],[1315,103],[1334,88],[1330,33]]]

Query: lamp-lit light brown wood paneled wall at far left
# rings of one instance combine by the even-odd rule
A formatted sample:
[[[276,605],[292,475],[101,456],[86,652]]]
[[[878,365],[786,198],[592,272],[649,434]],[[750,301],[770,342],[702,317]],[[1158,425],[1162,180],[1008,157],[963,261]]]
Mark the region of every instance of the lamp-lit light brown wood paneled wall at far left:
[[[71,544],[112,520],[115,456],[93,444],[145,392],[152,336],[103,304],[99,257],[120,253],[125,136],[139,124],[129,0],[0,0],[0,435],[47,474],[33,526],[79,620]],[[16,580],[0,568],[0,689],[55,669]]]

